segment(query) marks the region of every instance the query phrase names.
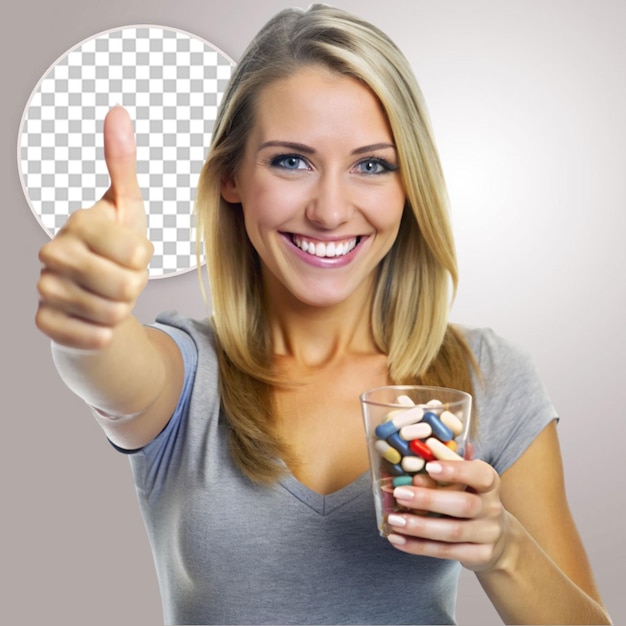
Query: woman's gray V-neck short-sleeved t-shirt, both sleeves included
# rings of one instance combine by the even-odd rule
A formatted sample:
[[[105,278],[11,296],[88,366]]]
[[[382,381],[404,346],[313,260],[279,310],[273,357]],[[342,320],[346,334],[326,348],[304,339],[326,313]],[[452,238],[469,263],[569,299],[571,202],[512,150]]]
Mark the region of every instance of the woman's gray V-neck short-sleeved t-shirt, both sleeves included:
[[[180,347],[185,383],[159,436],[130,453],[166,624],[451,624],[460,565],[378,535],[368,474],[327,496],[289,475],[271,487],[234,466],[206,323],[155,326]],[[476,456],[502,473],[556,418],[528,357],[465,329],[476,384]]]

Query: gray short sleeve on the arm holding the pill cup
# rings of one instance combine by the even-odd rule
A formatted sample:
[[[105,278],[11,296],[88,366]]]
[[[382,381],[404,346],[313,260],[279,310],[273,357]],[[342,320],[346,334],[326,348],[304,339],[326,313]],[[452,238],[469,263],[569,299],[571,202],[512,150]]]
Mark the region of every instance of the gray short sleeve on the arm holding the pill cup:
[[[474,389],[475,456],[501,474],[558,415],[527,352],[491,329],[468,339],[482,375]]]

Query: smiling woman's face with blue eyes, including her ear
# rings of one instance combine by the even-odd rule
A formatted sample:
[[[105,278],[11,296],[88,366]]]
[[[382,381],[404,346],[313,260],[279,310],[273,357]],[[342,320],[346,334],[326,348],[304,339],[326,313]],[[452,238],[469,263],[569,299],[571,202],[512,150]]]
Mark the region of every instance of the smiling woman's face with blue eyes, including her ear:
[[[370,293],[405,194],[384,111],[357,80],[307,67],[268,85],[240,167],[241,203],[273,303],[328,307]]]

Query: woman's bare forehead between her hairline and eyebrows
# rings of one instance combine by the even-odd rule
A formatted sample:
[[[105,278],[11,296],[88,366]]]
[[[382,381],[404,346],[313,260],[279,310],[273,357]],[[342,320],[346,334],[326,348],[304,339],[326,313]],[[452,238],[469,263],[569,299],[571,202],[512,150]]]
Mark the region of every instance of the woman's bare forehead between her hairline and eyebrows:
[[[390,141],[384,108],[356,78],[322,66],[304,67],[264,87],[254,110],[255,134],[288,133],[337,139],[376,135]]]

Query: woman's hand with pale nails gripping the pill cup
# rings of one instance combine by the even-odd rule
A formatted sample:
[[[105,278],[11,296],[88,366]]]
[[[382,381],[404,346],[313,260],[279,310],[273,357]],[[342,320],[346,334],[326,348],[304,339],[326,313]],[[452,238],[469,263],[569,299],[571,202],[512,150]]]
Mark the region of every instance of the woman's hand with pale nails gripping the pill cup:
[[[479,460],[436,461],[426,470],[413,485],[394,490],[398,504],[415,512],[389,515],[389,541],[410,554],[493,569],[504,553],[509,521],[496,471]]]

